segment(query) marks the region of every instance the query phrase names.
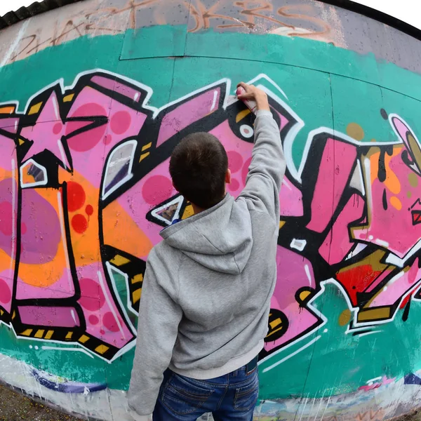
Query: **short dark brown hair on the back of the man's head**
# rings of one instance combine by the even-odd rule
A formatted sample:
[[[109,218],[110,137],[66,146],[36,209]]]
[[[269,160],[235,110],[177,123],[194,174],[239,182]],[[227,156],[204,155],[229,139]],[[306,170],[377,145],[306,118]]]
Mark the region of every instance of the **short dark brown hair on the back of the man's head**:
[[[203,209],[215,206],[224,198],[227,169],[227,152],[210,133],[187,135],[171,154],[174,187],[185,199]]]

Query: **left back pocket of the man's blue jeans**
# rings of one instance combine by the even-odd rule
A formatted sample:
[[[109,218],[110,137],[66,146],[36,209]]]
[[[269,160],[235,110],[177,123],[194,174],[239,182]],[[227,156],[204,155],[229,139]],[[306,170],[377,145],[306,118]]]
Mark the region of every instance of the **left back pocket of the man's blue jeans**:
[[[161,401],[171,412],[185,415],[201,408],[213,392],[194,379],[173,373],[163,388]]]

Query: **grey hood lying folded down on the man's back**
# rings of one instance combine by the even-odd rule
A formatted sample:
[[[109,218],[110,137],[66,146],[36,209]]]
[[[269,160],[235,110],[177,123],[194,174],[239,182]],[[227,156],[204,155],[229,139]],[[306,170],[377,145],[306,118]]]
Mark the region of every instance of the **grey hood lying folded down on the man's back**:
[[[250,258],[253,238],[246,203],[234,203],[227,194],[212,208],[163,229],[161,236],[208,269],[240,274]]]

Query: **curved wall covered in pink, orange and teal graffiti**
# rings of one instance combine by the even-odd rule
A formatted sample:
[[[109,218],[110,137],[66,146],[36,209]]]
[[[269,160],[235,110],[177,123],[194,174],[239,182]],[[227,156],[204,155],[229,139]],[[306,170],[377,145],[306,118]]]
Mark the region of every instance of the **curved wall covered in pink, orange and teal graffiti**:
[[[217,135],[239,194],[244,80],[288,163],[256,419],[417,406],[420,45],[314,0],[86,0],[1,31],[0,380],[128,420],[145,260],[192,212],[168,157]]]

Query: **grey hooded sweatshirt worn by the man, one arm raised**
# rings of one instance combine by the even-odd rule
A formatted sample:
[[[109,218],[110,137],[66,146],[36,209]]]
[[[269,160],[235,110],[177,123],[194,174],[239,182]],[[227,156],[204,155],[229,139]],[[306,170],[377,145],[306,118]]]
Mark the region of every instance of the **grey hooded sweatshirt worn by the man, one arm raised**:
[[[276,281],[279,191],[285,173],[279,127],[258,111],[246,187],[171,225],[149,254],[128,404],[153,412],[163,371],[196,379],[252,360],[267,334]]]

